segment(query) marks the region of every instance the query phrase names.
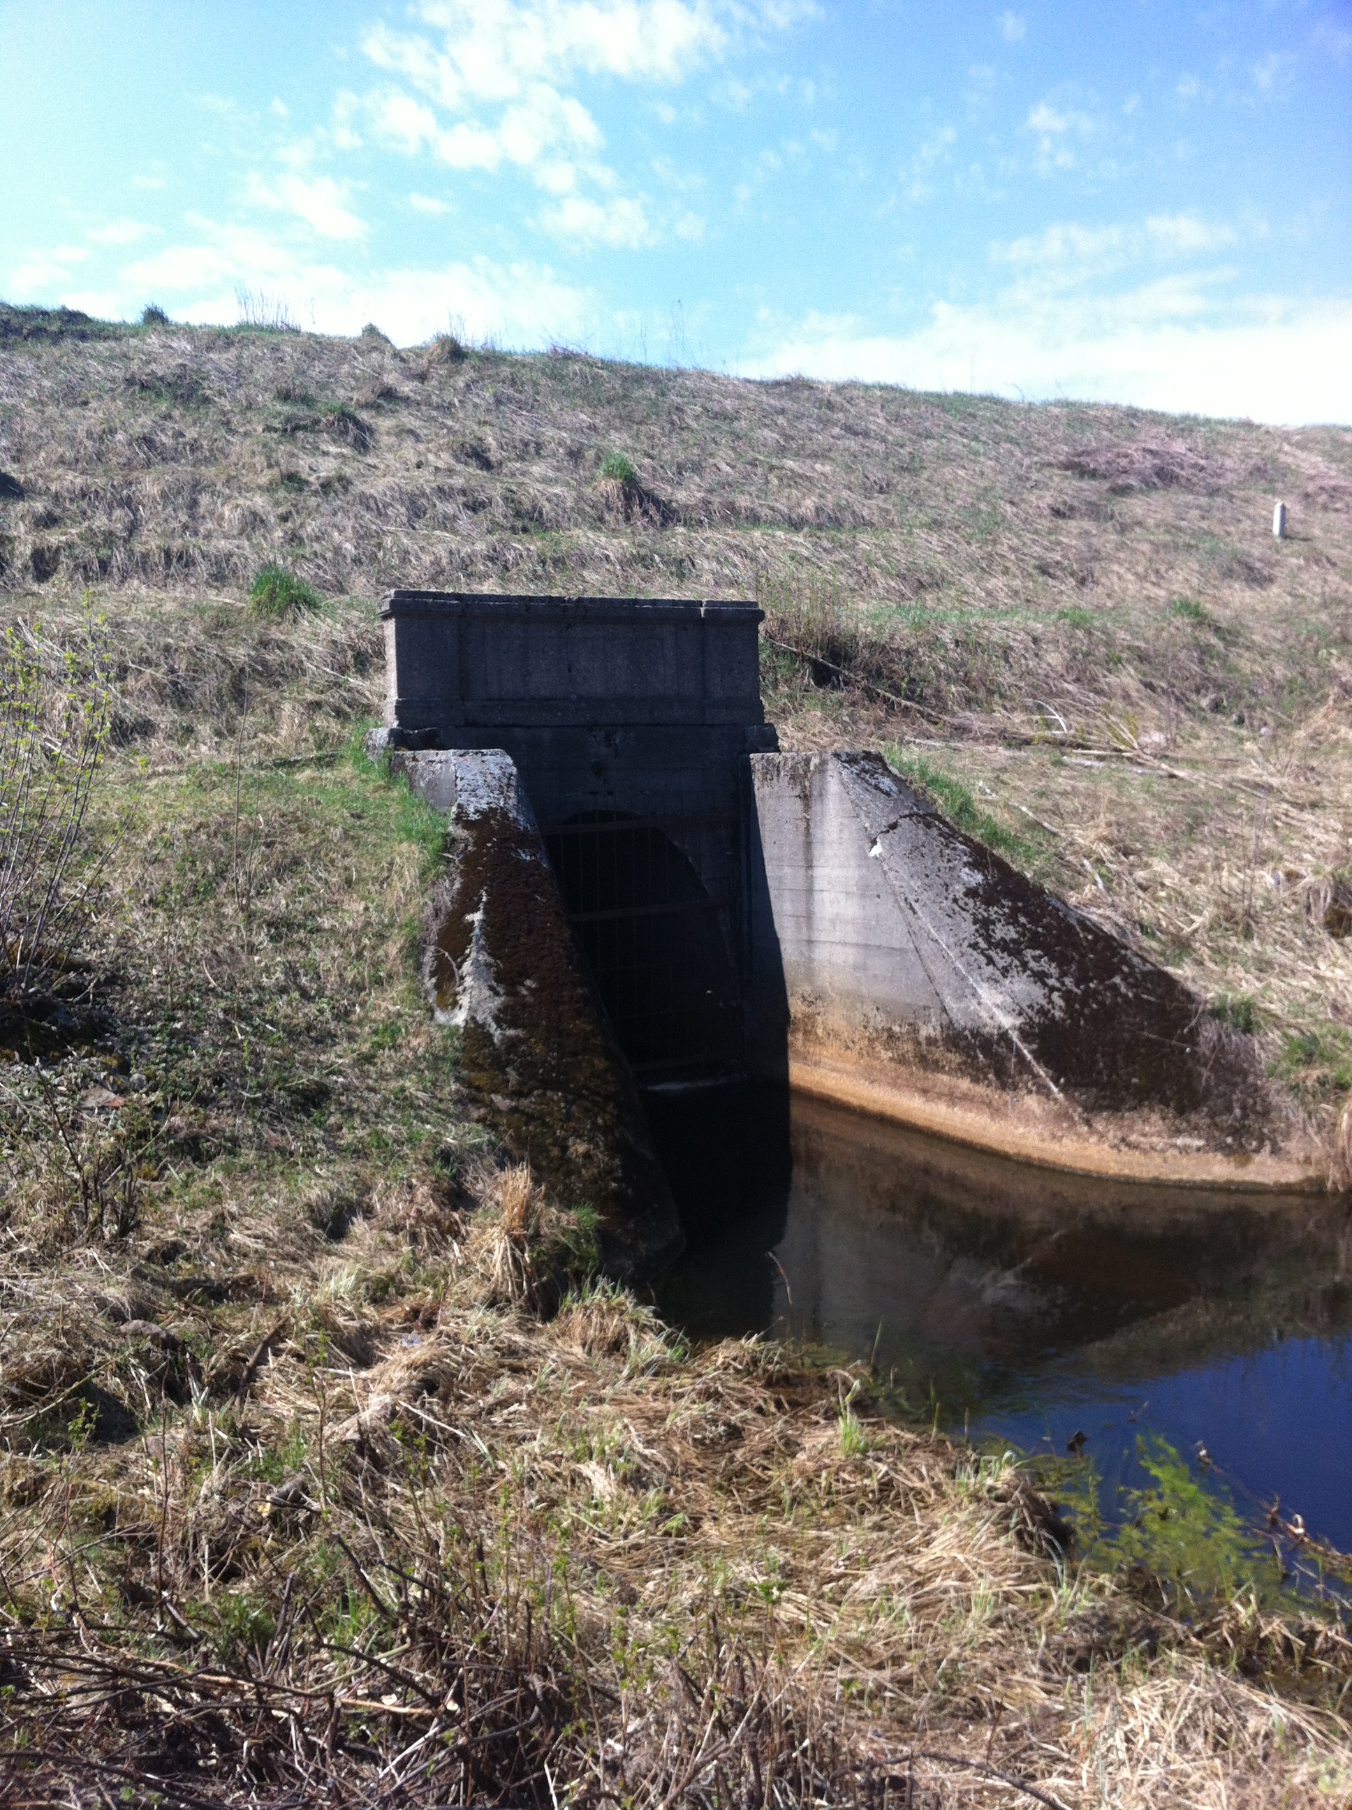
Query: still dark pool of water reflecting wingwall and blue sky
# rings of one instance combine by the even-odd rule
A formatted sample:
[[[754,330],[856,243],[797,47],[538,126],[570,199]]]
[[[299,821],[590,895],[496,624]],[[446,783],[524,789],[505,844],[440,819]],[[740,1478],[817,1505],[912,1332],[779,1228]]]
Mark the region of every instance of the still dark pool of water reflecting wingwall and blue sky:
[[[916,1410],[1140,1486],[1137,1435],[1204,1444],[1251,1506],[1352,1548],[1347,1211],[1236,1207],[999,1164],[769,1090],[652,1093],[699,1338],[872,1356]]]

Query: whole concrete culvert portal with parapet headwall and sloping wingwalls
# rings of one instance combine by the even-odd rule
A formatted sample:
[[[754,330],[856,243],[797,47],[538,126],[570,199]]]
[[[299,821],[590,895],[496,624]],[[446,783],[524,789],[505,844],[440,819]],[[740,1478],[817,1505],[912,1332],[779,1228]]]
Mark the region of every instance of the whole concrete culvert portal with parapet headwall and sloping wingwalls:
[[[483,862],[443,907],[478,927],[445,1010],[492,1028],[509,1077],[557,921],[630,1090],[769,1077],[1048,1167],[1309,1184],[1263,1153],[1252,1052],[1180,981],[880,755],[780,753],[755,605],[395,590],[382,617],[373,740],[471,840],[536,862],[498,929]]]

